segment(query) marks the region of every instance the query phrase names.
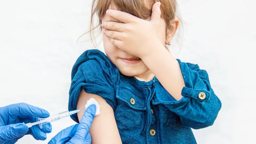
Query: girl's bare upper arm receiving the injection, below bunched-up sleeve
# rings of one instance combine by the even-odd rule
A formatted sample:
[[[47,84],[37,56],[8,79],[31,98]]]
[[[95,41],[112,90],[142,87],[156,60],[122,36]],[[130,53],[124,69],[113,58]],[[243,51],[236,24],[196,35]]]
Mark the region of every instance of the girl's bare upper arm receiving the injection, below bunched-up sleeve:
[[[77,109],[84,109],[87,100],[90,98],[96,99],[100,105],[100,114],[94,117],[90,129],[92,143],[122,143],[117,129],[114,111],[103,98],[82,90],[78,98]],[[79,121],[81,121],[83,113],[84,110],[77,114]]]

